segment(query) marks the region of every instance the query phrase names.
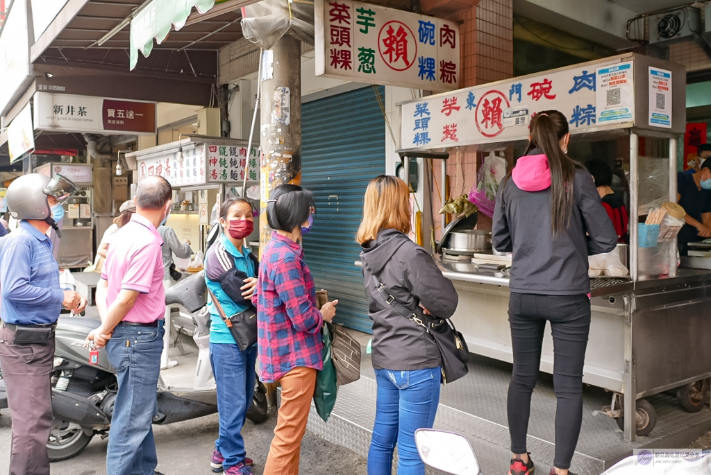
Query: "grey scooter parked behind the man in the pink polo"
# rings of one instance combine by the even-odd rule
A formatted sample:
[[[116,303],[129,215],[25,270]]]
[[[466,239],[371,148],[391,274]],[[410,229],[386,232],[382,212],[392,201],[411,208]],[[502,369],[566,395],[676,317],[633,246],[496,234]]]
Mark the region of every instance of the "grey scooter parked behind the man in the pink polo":
[[[166,305],[182,305],[193,315],[198,345],[198,363],[192,388],[166,386],[159,378],[156,425],[196,419],[216,413],[217,392],[210,366],[210,314],[205,307],[203,273],[191,275],[166,290]],[[95,435],[108,437],[118,389],[115,369],[106,351],[99,351],[97,364],[90,364],[87,334],[100,322],[80,317],[60,317],[52,373],[54,420],[47,443],[50,460],[70,459],[82,452]],[[3,400],[4,399],[4,400]],[[3,404],[4,403],[4,404]],[[6,406],[4,381],[0,380],[0,408]],[[255,423],[268,418],[267,388],[257,379],[247,418]]]

